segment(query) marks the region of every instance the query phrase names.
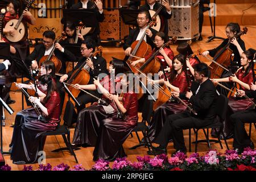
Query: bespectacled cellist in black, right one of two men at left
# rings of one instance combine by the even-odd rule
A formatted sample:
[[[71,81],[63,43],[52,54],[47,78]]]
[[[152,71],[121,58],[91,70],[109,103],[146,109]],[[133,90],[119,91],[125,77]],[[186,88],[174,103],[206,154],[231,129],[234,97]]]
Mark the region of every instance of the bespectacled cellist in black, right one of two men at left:
[[[88,84],[93,84],[93,78],[97,78],[100,73],[108,73],[106,69],[106,60],[103,57],[99,55],[91,57],[95,47],[96,47],[96,43],[94,42],[94,40],[90,38],[83,40],[80,48],[82,57],[79,59],[79,62],[77,63],[73,71],[70,71],[68,72],[68,74],[60,77],[60,82],[68,80],[68,78],[71,78],[72,73],[76,69],[81,67],[81,65],[85,61],[86,61],[86,64],[84,68],[90,74],[90,80]],[[94,96],[99,97],[97,90],[89,90],[88,92],[94,94]],[[85,104],[89,102],[96,102],[97,100],[84,92],[80,92],[79,97],[77,97],[77,101],[81,104],[81,106],[76,106],[77,114],[78,114],[80,110],[84,109]]]

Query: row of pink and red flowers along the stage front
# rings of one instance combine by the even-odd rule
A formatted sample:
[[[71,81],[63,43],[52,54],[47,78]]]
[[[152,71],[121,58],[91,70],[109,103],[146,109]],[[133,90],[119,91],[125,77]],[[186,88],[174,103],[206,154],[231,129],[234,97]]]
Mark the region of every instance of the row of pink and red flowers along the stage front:
[[[235,150],[226,150],[224,154],[210,150],[204,156],[194,153],[189,157],[183,152],[173,156],[165,154],[155,156],[137,156],[137,162],[130,162],[127,158],[117,158],[112,166],[106,160],[99,159],[91,169],[86,170],[81,164],[69,167],[61,163],[52,167],[51,164],[40,164],[35,171],[256,171],[256,150],[245,148],[242,155]],[[0,171],[11,171],[6,164]],[[24,165],[23,171],[33,171],[32,166]]]

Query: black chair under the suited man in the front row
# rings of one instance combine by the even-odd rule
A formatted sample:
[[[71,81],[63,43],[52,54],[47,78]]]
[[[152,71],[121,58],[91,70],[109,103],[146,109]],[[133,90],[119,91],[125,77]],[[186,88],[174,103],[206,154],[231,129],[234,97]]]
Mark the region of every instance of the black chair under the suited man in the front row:
[[[217,100],[217,106],[216,106],[217,116],[216,116],[215,122],[208,125],[208,126],[204,126],[204,127],[200,127],[198,129],[196,129],[196,141],[192,142],[192,143],[196,144],[195,152],[197,152],[197,143],[202,143],[202,142],[208,143],[209,148],[211,148],[210,142],[220,143],[221,149],[223,148],[222,144],[221,144],[221,140],[220,140],[220,134],[217,135],[218,140],[209,139],[209,129],[214,129],[215,132],[217,133],[216,129],[220,128],[221,134],[223,136],[225,136],[222,129],[224,127],[223,126],[223,121],[226,118],[226,111],[227,110],[228,110],[228,98],[226,96],[220,94],[220,96],[218,96],[218,100]],[[205,135],[206,140],[197,140],[198,131],[201,130],[201,129],[204,131],[204,135]],[[207,129],[207,132],[205,131],[205,129]],[[225,137],[224,137],[224,141],[225,141],[225,144],[226,144],[226,148],[229,150],[229,146],[228,146],[228,143],[226,142]],[[189,152],[191,152],[191,129],[189,129]]]

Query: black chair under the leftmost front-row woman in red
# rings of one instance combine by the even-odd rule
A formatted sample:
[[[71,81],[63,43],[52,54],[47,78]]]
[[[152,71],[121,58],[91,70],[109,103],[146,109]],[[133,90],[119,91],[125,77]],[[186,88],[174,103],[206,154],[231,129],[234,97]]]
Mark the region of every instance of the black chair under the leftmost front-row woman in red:
[[[57,152],[60,150],[69,150],[69,152],[75,157],[76,163],[78,163],[76,154],[75,154],[73,147],[71,145],[71,142],[70,142],[69,127],[71,127],[71,125],[72,125],[73,110],[74,110],[74,105],[72,104],[71,101],[68,101],[66,108],[65,108],[65,113],[63,116],[64,124],[57,126],[57,129],[55,131],[47,131],[46,133],[42,134],[42,137],[52,136],[52,135],[62,135],[67,147],[58,148],[56,150],[53,150],[52,152]],[[67,135],[67,137],[66,137],[66,135]],[[80,148],[76,148],[76,149],[80,149]]]

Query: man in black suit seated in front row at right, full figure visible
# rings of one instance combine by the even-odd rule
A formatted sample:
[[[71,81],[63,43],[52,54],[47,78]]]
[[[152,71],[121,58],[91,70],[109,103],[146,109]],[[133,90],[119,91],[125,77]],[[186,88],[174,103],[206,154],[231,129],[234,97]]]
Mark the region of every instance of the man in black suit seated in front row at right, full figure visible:
[[[172,135],[174,139],[174,148],[180,152],[187,152],[185,147],[183,130],[191,129],[193,127],[203,127],[214,122],[216,118],[216,101],[218,98],[215,86],[207,77],[208,66],[205,63],[195,65],[195,80],[191,85],[191,92],[186,94],[172,93],[175,97],[179,96],[181,99],[185,97],[189,99],[192,104],[192,109],[196,111],[197,115],[190,113],[188,110],[179,114],[169,115],[168,121],[164,123],[160,134],[155,140],[155,143],[160,144],[155,149],[155,154],[167,153],[166,147],[168,139]],[[152,152],[148,152],[152,154]]]

